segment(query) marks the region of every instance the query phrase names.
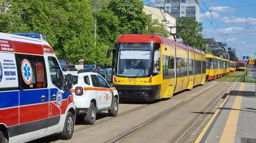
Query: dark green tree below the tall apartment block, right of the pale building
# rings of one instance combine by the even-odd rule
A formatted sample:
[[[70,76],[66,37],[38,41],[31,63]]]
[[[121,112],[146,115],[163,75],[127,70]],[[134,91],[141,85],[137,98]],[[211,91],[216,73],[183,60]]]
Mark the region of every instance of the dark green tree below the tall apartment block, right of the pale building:
[[[177,19],[177,26],[184,27],[179,33],[187,45],[205,51],[206,45],[202,35],[202,23],[195,21],[195,19],[182,16]]]

